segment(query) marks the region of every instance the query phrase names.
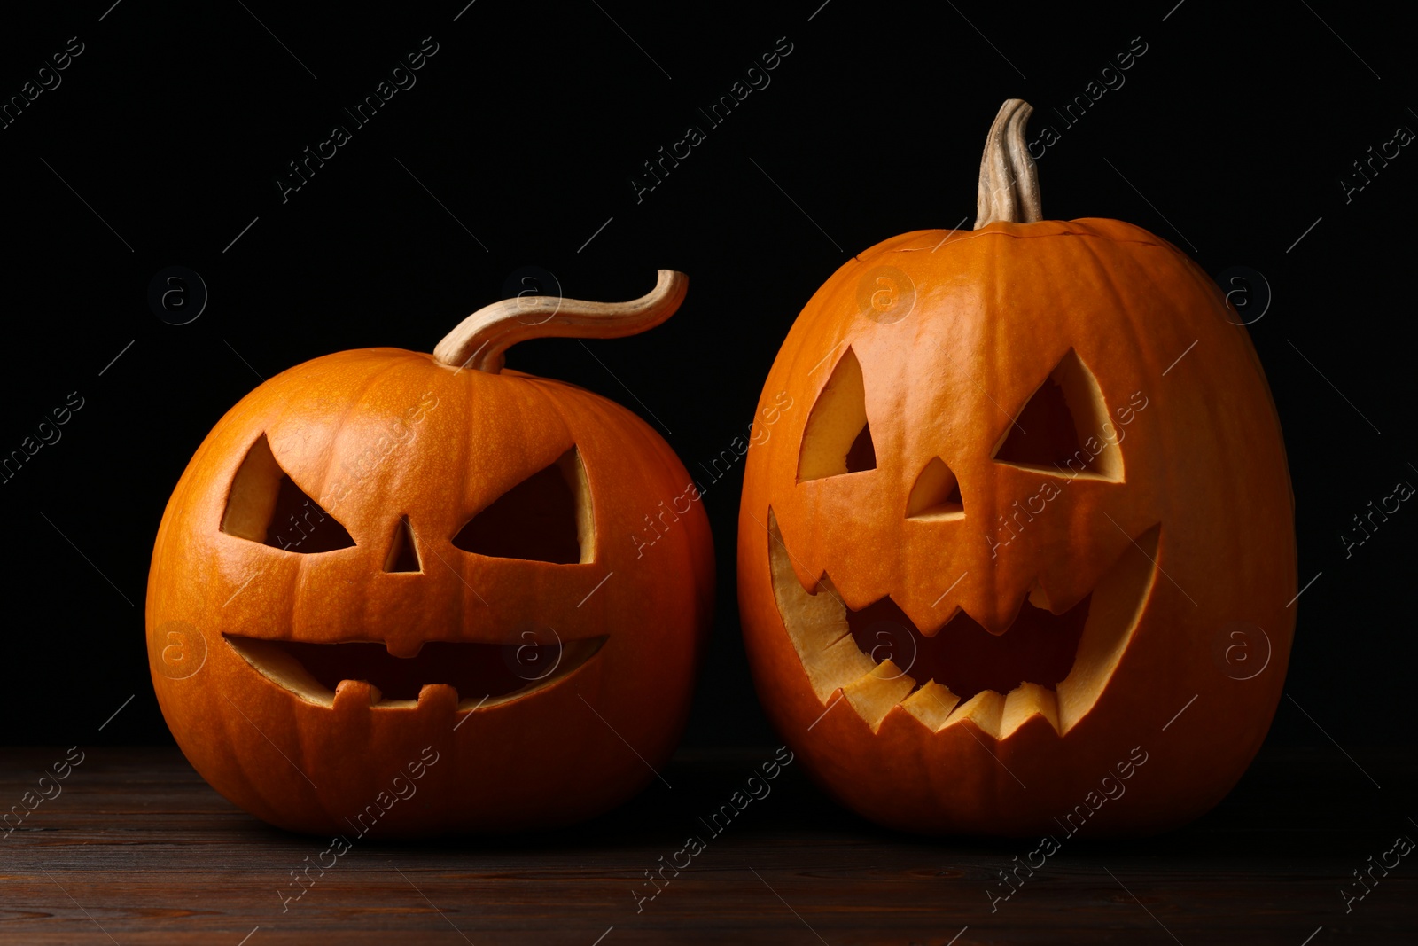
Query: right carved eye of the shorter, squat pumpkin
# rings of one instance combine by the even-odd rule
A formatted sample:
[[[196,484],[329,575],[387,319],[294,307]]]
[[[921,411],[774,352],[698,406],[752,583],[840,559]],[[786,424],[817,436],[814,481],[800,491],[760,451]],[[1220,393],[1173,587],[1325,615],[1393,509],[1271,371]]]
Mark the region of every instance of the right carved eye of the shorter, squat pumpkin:
[[[576,447],[493,499],[452,543],[493,559],[590,562],[596,549],[591,494]]]

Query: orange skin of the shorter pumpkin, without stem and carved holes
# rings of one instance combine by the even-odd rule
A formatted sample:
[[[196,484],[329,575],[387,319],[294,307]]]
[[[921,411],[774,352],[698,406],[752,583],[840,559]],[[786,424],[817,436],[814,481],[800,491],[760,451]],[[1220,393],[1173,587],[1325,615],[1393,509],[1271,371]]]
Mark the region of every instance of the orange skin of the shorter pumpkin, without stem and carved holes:
[[[354,547],[301,555],[221,530],[237,469],[262,434]],[[451,545],[472,512],[571,445],[591,498],[590,562]],[[627,538],[688,481],[638,417],[560,382],[458,370],[400,349],[286,370],[221,418],[163,515],[147,645],[167,725],[221,794],[296,831],[512,831],[604,811],[654,777],[688,712],[712,606],[708,521],[695,503],[640,557]],[[417,573],[383,570],[401,516]],[[567,644],[605,641],[540,689],[476,709],[468,702],[478,694],[458,694],[459,709],[448,689],[370,706],[359,686],[318,705],[258,674],[223,637],[384,641],[407,657],[428,641],[512,652],[525,631],[545,641],[547,628]],[[174,642],[204,648],[200,671],[174,678],[163,664],[183,657]]]

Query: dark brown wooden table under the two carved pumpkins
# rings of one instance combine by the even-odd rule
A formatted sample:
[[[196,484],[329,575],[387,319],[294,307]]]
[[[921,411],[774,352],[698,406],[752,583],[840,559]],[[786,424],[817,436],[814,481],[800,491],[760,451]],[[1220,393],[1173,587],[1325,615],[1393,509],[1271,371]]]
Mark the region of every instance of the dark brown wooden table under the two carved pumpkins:
[[[922,840],[835,807],[798,767],[716,838],[718,808],[771,750],[682,750],[620,810],[542,837],[325,850],[269,828],[176,749],[88,749],[0,835],[4,943],[1285,943],[1418,942],[1418,851],[1363,898],[1353,871],[1418,840],[1409,749],[1268,747],[1219,808],[1146,841],[1072,838],[991,912],[1031,842]],[[0,752],[18,801],[62,749]],[[1366,774],[1367,773],[1367,774]],[[1375,783],[1383,786],[1375,787]],[[3,807],[3,806],[0,806]],[[654,899],[645,871],[708,840]],[[666,872],[666,877],[672,874]]]

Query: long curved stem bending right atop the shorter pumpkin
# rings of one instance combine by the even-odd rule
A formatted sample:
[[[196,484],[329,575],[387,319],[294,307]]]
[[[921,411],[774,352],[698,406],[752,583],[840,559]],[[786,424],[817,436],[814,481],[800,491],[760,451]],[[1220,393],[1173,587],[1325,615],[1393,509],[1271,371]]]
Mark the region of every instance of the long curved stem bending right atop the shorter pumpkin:
[[[615,339],[652,329],[679,308],[689,277],[659,269],[655,288],[630,302],[583,302],[553,295],[518,296],[485,305],[444,336],[434,360],[489,374],[518,342],[539,338]]]

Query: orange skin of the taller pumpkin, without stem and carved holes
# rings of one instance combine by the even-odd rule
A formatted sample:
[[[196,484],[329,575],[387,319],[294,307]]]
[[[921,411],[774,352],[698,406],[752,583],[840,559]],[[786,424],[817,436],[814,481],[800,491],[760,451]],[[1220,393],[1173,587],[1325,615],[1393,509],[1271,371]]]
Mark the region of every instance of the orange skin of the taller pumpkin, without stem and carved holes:
[[[902,275],[913,285],[899,321],[862,305],[882,267],[895,268],[898,291]],[[910,233],[814,294],[760,400],[766,408],[787,391],[803,408],[749,450],[739,603],[759,696],[827,791],[906,831],[1056,838],[1085,821],[1092,837],[1166,830],[1227,794],[1275,713],[1296,596],[1279,420],[1238,321],[1181,251],[1115,220]],[[797,482],[810,407],[847,349],[861,365],[876,468]],[[1011,417],[1069,349],[1110,413],[1134,391],[1147,399],[1122,428],[1116,481],[994,458]],[[908,519],[917,474],[936,457],[959,479],[963,516]],[[1014,519],[1014,503],[1042,481],[1058,495]],[[1010,542],[1000,543],[1000,516],[1015,526]],[[1022,696],[983,694],[944,725],[895,705],[873,728],[872,713],[856,711],[868,699],[821,679],[814,691],[776,599],[770,518],[790,591],[828,594],[825,574],[847,608],[889,596],[923,634],[956,608],[991,633],[1005,628],[1035,581],[1064,610],[1113,563],[1132,563],[1123,570],[1146,591],[1112,672],[1096,684],[1068,678],[1066,725],[1025,712]],[[1133,542],[1149,535],[1156,569]],[[1268,647],[1254,631],[1228,638],[1232,623],[1258,625]],[[1245,647],[1252,665],[1238,671]]]

